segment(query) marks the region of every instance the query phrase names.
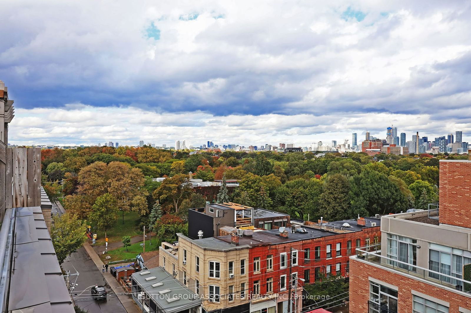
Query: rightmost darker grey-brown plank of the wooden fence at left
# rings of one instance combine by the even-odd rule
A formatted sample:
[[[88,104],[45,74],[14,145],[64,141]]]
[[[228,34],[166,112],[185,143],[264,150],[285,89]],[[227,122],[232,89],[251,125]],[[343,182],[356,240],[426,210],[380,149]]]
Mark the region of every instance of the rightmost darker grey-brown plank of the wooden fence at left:
[[[28,206],[41,205],[41,148],[28,148]]]

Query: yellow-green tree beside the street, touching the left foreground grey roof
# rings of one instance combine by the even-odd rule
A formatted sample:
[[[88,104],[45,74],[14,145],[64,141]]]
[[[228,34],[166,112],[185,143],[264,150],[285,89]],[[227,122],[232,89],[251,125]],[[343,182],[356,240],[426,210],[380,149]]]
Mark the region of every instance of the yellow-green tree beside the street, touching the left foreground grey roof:
[[[59,264],[62,264],[65,258],[76,252],[85,241],[86,223],[69,213],[54,218],[54,224],[51,226],[51,239]]]

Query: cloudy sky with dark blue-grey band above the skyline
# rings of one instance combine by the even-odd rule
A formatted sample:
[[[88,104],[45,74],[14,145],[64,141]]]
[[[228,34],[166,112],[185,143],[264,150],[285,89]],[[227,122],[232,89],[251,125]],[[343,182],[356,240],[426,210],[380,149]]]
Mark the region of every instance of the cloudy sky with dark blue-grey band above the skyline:
[[[471,141],[470,1],[2,1],[16,144]]]

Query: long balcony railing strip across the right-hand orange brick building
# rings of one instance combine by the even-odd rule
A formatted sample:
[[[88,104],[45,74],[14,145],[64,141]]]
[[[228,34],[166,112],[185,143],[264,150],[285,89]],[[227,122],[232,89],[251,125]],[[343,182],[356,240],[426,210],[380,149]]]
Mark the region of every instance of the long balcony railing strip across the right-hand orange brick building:
[[[384,267],[385,270],[395,272],[396,274],[408,274],[417,280],[423,280],[430,284],[441,285],[441,288],[453,290],[459,294],[471,298],[471,282],[461,278],[432,271],[428,268],[415,266],[396,259],[388,258],[381,255],[381,243],[370,245],[365,248],[357,248],[357,259],[375,266]],[[436,277],[436,278],[434,278]],[[463,288],[464,286],[464,288]],[[369,311],[369,312],[387,312],[387,311]]]

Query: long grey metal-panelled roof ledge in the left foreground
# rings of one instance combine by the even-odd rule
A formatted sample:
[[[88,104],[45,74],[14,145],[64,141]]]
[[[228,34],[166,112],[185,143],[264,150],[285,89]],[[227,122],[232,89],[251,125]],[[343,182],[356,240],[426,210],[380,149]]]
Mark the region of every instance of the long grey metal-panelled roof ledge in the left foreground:
[[[3,227],[8,227],[13,238],[9,246],[13,252],[12,262],[6,278],[9,280],[8,311],[73,313],[41,207],[8,210],[11,211],[2,224],[2,233]],[[5,254],[4,258],[7,257]]]

